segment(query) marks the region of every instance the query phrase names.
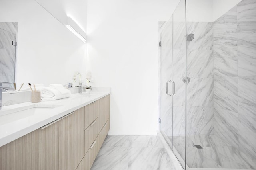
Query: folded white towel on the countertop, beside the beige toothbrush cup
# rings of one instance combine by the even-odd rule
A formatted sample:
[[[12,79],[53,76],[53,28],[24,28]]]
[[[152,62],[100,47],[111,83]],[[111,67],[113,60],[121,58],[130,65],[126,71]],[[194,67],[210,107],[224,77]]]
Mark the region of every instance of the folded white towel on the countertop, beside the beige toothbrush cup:
[[[41,99],[42,100],[57,100],[62,98],[68,98],[71,95],[70,90],[64,88],[62,89],[62,93],[59,89],[54,87],[46,87],[41,90]]]

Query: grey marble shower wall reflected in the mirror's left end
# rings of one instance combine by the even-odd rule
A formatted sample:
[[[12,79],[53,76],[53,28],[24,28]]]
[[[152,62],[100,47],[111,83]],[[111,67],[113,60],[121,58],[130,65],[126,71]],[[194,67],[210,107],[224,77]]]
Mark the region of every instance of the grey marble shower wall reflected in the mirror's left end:
[[[0,82],[15,82],[17,22],[0,22]]]

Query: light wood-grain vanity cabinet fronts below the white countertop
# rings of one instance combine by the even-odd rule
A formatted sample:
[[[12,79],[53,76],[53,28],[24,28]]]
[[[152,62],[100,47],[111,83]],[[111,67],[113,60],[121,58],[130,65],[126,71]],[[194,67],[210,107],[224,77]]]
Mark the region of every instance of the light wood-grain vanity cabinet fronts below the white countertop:
[[[0,170],[90,170],[109,131],[109,96],[0,147]]]

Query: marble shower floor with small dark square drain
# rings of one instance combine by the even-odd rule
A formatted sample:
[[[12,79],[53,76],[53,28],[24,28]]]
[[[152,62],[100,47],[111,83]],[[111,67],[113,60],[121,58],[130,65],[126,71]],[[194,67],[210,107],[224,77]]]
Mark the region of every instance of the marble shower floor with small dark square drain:
[[[172,137],[169,139],[172,141]],[[174,136],[173,145],[185,160],[185,137]],[[194,145],[201,145],[202,149]],[[188,136],[186,161],[189,168],[256,169],[255,160],[215,135]]]

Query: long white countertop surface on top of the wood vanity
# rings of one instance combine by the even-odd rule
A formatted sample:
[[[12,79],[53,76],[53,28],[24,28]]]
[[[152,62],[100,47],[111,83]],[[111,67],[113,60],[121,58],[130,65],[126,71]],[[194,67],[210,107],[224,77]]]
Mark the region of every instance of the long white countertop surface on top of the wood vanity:
[[[40,127],[47,125],[61,117],[72,113],[106,95],[110,94],[109,90],[97,91],[82,94],[72,94],[69,98],[59,100],[41,100],[40,104],[61,105],[50,109],[47,113],[28,114],[28,113],[10,113],[0,116],[0,147],[22,137]],[[3,106],[2,110],[12,109],[31,105],[31,102]],[[1,112],[1,111],[0,111]],[[23,111],[24,112],[24,111]]]

